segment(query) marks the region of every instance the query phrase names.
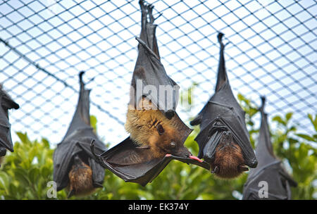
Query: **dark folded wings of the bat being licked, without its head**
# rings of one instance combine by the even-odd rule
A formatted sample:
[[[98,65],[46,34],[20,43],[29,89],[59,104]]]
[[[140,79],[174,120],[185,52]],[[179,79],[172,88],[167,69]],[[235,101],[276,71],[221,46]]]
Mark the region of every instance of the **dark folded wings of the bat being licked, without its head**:
[[[249,141],[249,133],[244,122],[245,112],[232,94],[227,72],[225,70],[224,49],[222,42],[223,34],[218,34],[220,43],[220,60],[218,67],[218,78],[215,94],[211,96],[208,103],[191,125],[200,125],[200,132],[195,139],[199,144],[199,158],[213,158],[216,147],[223,132],[230,131],[234,141],[241,147],[245,164],[254,168],[256,156]]]

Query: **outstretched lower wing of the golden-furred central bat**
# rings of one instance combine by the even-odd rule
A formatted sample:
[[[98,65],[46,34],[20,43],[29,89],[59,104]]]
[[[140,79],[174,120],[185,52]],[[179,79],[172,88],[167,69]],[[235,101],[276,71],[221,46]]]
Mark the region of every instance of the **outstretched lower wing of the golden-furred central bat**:
[[[94,144],[92,144],[92,153]],[[135,182],[143,187],[154,180],[155,177],[170,163],[170,160],[180,160],[184,163],[199,165],[209,170],[209,164],[199,162],[191,158],[178,156],[165,156],[163,158],[152,158],[147,149],[141,149],[128,137],[120,144],[108,151],[95,156],[96,160],[111,170],[115,175],[125,182]]]

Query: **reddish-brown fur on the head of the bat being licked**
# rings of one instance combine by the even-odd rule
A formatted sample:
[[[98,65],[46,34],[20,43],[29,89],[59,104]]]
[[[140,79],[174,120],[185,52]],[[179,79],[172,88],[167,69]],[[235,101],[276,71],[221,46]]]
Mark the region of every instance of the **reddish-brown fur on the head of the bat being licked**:
[[[213,170],[218,166],[216,175],[226,179],[239,176],[243,172],[239,166],[244,166],[244,158],[240,146],[233,141],[231,141],[230,145],[231,146],[224,146],[223,149],[220,150],[223,144],[218,144],[216,147],[215,160],[211,164]]]

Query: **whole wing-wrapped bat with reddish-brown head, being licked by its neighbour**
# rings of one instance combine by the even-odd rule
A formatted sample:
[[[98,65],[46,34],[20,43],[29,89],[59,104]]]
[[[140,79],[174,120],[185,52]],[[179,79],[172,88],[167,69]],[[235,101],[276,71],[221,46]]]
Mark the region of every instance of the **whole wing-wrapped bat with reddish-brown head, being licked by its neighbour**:
[[[247,166],[255,168],[256,156],[244,122],[245,112],[232,94],[225,70],[223,34],[218,34],[220,59],[215,94],[190,125],[200,125],[196,137],[199,158],[210,164],[211,173],[218,177],[237,177]]]

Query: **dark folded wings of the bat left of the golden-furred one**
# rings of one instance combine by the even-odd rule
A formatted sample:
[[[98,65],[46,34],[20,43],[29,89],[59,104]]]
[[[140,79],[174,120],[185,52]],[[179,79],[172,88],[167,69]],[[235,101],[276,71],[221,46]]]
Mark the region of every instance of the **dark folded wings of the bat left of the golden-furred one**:
[[[65,137],[54,151],[54,181],[57,184],[58,191],[68,186],[68,172],[76,155],[79,155],[92,168],[92,178],[95,187],[100,187],[104,180],[104,168],[95,162],[94,155],[90,150],[90,144],[94,141],[96,150],[99,152],[105,151],[106,146],[94,134],[94,130],[90,126],[90,90],[85,89],[82,75],[83,72],[80,73],[80,96],[73,120],[70,122]]]

